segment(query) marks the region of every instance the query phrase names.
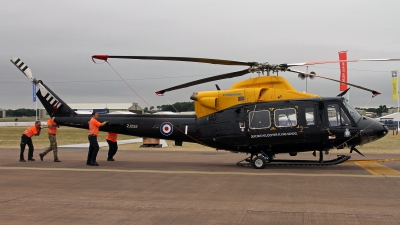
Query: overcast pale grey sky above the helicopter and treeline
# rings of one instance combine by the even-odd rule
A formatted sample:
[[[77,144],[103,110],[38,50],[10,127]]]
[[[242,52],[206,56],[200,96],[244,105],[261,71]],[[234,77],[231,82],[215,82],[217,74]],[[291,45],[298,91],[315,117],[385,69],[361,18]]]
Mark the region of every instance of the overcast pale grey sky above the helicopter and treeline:
[[[92,55],[182,56],[246,62],[301,63],[400,58],[398,0],[1,0],[0,108],[35,108],[32,85],[10,62],[21,58],[32,74],[66,103],[136,102],[142,108],[191,101],[193,92],[230,88],[258,76],[219,80],[157,96],[156,91],[243,66],[109,59]],[[296,67],[339,79],[339,64]],[[391,95],[396,62],[348,63],[353,106],[397,106]],[[340,93],[339,83],[300,80],[280,73],[298,91],[322,97]],[[128,86],[129,85],[129,86]],[[38,108],[42,108],[40,102]]]

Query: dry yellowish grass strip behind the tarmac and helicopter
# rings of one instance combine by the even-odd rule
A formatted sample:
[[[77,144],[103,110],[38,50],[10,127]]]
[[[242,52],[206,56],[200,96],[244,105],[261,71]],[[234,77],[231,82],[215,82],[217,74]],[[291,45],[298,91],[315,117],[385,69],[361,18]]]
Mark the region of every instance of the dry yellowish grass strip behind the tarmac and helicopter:
[[[0,127],[0,148],[19,148],[19,143],[21,141],[21,135],[26,127]],[[71,127],[61,127],[58,129],[57,133],[57,143],[58,145],[70,145],[70,144],[81,144],[88,143],[87,140],[88,131],[86,129],[78,129]],[[98,141],[105,141],[107,136],[106,132],[99,132]],[[118,135],[118,140],[126,140],[137,138],[128,135]],[[42,149],[48,147],[49,139],[47,136],[47,129],[43,129],[43,133],[40,136],[34,136],[32,138],[33,145],[35,149]],[[167,140],[167,148],[151,148],[151,150],[168,150],[168,151],[215,151],[214,148],[209,148],[202,146],[197,143],[187,143],[184,142],[183,146],[174,146],[174,141]],[[140,148],[142,143],[132,143],[119,145],[119,150],[146,150],[149,148]],[[400,154],[400,134],[393,135],[392,131],[384,138],[366,144],[364,146],[357,147],[363,154]],[[101,149],[108,149],[108,147],[103,147]],[[332,150],[331,153],[343,154],[343,150]],[[346,151],[346,150],[344,150]]]

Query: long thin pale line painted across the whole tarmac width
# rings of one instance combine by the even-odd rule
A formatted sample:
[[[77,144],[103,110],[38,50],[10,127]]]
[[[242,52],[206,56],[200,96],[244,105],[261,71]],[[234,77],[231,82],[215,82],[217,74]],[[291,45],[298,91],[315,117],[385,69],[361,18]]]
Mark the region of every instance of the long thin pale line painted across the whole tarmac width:
[[[0,167],[0,170],[38,170],[38,171],[76,171],[76,172],[117,172],[117,173],[163,173],[163,174],[200,174],[200,175],[247,175],[247,176],[303,176],[303,177],[364,177],[364,178],[400,178],[396,174],[301,174],[301,173],[259,173],[259,172],[218,172],[218,171],[168,171],[168,170],[123,170],[123,169],[83,169],[83,168],[39,168],[39,167]]]

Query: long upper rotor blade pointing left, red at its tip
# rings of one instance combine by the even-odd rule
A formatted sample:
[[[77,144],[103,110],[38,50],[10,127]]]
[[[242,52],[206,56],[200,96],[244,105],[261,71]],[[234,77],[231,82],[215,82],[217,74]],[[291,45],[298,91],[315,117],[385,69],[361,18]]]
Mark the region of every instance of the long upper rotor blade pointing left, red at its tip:
[[[113,55],[93,55],[93,59],[101,59],[107,61],[108,58],[115,59],[144,59],[144,60],[166,60],[166,61],[183,61],[183,62],[198,62],[218,65],[230,66],[252,66],[255,62],[241,62],[223,59],[208,59],[208,58],[193,58],[193,57],[173,57],[173,56],[113,56]]]

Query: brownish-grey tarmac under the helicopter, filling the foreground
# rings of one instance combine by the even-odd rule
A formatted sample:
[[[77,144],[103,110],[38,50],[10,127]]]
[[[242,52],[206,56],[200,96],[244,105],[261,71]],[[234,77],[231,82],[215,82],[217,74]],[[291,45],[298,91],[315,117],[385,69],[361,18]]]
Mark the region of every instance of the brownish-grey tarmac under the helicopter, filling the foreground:
[[[98,167],[86,148],[39,153],[0,149],[0,224],[400,224],[400,155],[256,170],[226,151],[101,150]]]

